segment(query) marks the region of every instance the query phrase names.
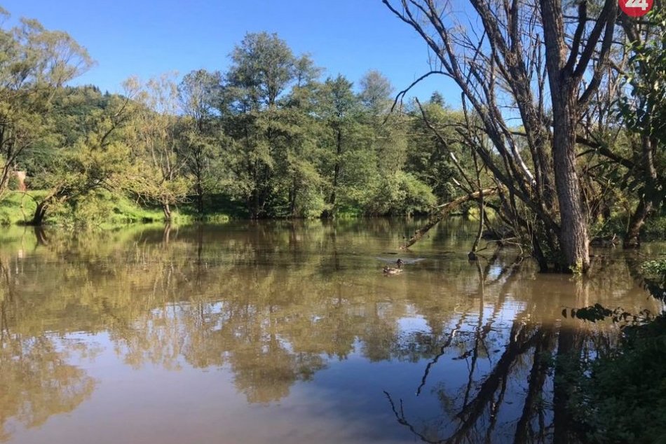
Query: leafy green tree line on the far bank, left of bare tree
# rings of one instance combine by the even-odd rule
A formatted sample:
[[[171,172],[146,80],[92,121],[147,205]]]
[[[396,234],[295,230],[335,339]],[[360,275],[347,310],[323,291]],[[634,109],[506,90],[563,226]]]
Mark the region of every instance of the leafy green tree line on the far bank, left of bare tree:
[[[175,206],[249,218],[423,213],[454,193],[421,120],[389,113],[385,76],[322,78],[276,34],[247,34],[226,72],[128,78],[123,94],[66,86],[93,64],[67,34],[22,20],[3,37],[0,197],[26,171],[29,188],[45,190],[36,225],[109,194],[169,220]],[[432,106],[455,114],[440,95]]]

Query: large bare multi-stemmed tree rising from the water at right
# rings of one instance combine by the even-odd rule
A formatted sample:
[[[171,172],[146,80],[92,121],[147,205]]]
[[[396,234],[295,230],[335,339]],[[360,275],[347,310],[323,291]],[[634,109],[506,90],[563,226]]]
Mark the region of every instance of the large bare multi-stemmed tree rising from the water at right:
[[[437,0],[383,4],[427,43],[433,62],[423,78],[451,78],[465,110],[480,121],[491,146],[474,148],[502,184],[500,208],[531,240],[541,268],[548,268],[550,251],[561,253],[567,268],[586,272],[576,128],[604,76],[617,1],[605,0],[595,17],[587,1],[470,0],[473,17],[448,13]],[[504,112],[505,104],[514,111]],[[516,115],[520,131],[510,124]]]

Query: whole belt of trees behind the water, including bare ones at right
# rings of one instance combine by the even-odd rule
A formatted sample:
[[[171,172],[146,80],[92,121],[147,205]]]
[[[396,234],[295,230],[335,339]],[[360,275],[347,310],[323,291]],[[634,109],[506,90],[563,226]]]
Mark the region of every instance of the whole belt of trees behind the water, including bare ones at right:
[[[394,99],[372,69],[322,78],[265,32],[246,34],[225,72],[130,77],[123,94],[71,87],[94,64],[85,48],[22,19],[0,34],[0,219],[432,216],[409,245],[472,211],[479,240],[585,272],[590,241],[665,234],[666,22],[660,8],[636,21],[612,1],[544,3],[475,4],[475,41],[437,2],[384,1],[433,53],[423,78],[461,88],[460,109],[439,92],[407,99],[413,85]]]

